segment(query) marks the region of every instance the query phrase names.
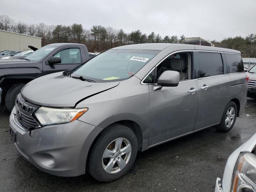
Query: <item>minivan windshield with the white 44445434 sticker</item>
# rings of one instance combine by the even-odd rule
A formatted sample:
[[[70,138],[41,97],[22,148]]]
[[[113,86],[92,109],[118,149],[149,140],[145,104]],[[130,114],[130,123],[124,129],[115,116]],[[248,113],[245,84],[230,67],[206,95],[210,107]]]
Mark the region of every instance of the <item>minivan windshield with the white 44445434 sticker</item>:
[[[92,58],[71,76],[82,76],[95,82],[119,81],[130,78],[160,51],[108,50]]]

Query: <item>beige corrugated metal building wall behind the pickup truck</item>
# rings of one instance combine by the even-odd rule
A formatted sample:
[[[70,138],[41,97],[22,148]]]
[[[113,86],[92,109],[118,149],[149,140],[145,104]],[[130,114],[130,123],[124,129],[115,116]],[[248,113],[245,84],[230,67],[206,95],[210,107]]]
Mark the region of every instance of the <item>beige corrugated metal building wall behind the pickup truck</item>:
[[[34,36],[0,30],[0,51],[30,50],[30,48],[28,48],[29,45],[34,46],[36,48],[41,48],[41,39],[42,38],[40,37],[34,37]]]

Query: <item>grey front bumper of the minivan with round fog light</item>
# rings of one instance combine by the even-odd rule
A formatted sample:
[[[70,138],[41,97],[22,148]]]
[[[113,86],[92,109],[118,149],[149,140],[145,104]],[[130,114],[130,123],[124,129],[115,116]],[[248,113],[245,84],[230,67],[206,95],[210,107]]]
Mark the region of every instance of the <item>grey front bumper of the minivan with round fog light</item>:
[[[65,177],[85,173],[88,151],[102,130],[75,120],[26,131],[19,124],[14,110],[10,127],[16,133],[15,146],[26,160],[44,172]]]

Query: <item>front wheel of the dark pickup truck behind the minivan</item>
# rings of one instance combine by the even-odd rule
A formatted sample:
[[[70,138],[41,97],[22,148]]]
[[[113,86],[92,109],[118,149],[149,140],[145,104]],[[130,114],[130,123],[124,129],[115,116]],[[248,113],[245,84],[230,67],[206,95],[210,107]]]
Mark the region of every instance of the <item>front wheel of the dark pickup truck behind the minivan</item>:
[[[22,87],[24,87],[24,85],[24,83],[16,84],[12,86],[6,93],[5,106],[9,112],[11,112],[14,108],[16,96],[20,93],[20,90],[22,89]]]

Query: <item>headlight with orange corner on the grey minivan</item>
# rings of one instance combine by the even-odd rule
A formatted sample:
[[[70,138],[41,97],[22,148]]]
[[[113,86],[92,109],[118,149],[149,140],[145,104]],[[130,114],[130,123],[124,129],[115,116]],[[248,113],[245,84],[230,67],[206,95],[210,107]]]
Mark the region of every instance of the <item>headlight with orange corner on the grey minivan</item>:
[[[49,108],[40,107],[35,112],[38,121],[43,125],[62,124],[76,120],[82,114],[88,111],[88,108],[69,109],[69,108]]]

